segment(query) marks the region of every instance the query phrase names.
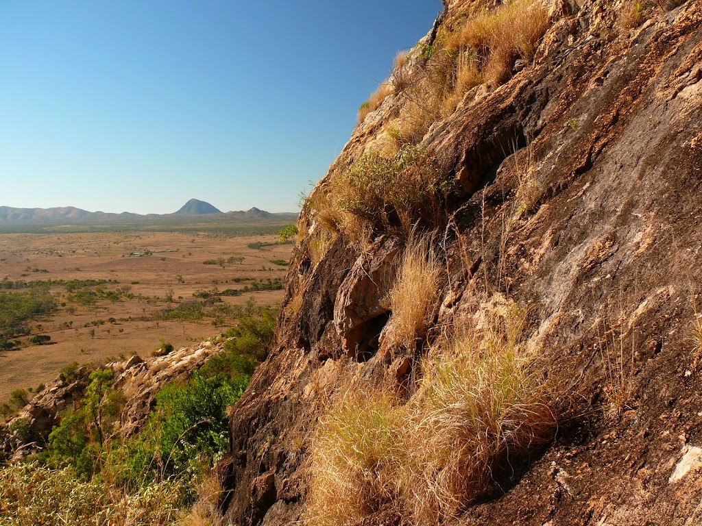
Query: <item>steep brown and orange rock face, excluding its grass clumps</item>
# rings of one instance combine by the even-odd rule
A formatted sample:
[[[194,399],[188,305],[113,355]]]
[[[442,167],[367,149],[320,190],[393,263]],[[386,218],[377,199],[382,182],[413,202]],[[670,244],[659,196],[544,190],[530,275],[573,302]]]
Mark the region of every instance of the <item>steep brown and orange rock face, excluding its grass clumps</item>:
[[[221,466],[231,522],[303,518],[310,445],[331,400],[406,386],[441,328],[496,295],[527,309],[559,427],[456,523],[702,520],[701,1],[549,2],[533,57],[467,88],[421,130],[419,147],[453,187],[433,225],[445,271],[416,349],[389,343],[402,229],[359,241],[337,222],[320,235],[335,177],[402,135],[410,97],[398,84],[426,60],[417,50],[496,5],[449,3],[308,199],[280,344],[232,411]],[[359,524],[403,520],[378,509]]]

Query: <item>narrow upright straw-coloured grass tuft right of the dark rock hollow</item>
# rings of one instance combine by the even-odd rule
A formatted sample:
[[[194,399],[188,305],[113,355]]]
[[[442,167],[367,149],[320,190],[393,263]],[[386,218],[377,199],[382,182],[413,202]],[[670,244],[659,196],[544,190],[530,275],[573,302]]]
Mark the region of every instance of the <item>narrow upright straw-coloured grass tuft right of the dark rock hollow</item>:
[[[428,318],[437,302],[441,271],[432,250],[432,238],[411,238],[389,294],[393,345],[415,349],[416,339],[425,336]]]

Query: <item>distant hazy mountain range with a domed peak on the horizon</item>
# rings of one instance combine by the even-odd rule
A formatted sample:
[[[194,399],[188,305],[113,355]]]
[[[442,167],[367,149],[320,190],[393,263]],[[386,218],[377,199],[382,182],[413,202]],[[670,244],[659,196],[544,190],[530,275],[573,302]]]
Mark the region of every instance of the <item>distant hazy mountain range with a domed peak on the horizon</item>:
[[[0,206],[0,224],[130,224],[186,221],[232,221],[232,222],[295,222],[296,213],[270,213],[258,208],[222,212],[210,203],[190,199],[177,212],[172,214],[133,214],[123,212],[113,214],[106,212],[88,212],[73,206],[61,208],[13,208]]]

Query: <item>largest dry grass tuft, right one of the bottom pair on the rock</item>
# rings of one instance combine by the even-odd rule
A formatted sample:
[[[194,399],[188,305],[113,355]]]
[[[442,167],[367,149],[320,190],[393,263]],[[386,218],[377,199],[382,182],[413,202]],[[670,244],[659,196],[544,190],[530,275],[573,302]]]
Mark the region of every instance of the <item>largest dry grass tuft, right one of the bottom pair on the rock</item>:
[[[402,487],[415,523],[455,516],[552,439],[555,417],[523,328],[524,312],[507,304],[425,361],[404,433]]]

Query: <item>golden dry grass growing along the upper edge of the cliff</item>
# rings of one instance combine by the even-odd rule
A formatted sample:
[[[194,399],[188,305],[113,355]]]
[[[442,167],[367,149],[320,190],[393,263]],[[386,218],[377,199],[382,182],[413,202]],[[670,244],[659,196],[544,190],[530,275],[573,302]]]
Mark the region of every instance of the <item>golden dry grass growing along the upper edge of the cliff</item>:
[[[471,88],[505,83],[517,59],[526,67],[550,23],[543,4],[535,0],[512,0],[493,10],[467,13],[453,27],[442,27],[432,43],[400,55],[390,81],[361,107],[359,123],[390,95],[390,86],[402,107],[389,134],[400,145],[418,144]]]

